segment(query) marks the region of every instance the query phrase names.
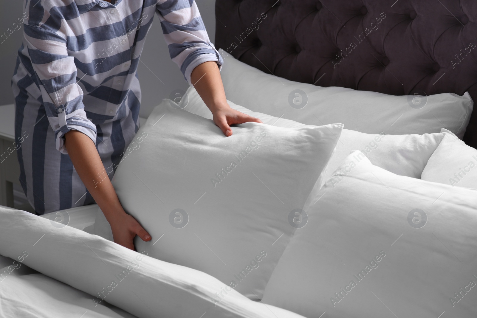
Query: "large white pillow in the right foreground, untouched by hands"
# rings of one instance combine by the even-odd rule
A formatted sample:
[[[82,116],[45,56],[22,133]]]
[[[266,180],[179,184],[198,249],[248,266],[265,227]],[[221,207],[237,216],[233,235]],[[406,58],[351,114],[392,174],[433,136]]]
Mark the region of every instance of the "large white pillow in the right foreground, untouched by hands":
[[[305,208],[263,302],[305,317],[477,317],[477,191],[358,156]]]

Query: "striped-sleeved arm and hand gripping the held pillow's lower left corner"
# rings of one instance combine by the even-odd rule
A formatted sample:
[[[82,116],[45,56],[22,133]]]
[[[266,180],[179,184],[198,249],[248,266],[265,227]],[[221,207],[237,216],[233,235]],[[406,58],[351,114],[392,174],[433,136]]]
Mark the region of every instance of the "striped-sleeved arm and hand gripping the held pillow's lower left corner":
[[[41,5],[33,9],[38,3],[27,1],[26,12],[30,12],[32,17],[34,12],[36,17],[25,20],[23,41],[31,58],[33,70],[29,71],[34,74],[31,76],[39,80],[36,83],[40,85],[42,103],[56,136],[56,149],[70,155],[83,184],[110,223],[114,242],[134,249],[133,238],[136,235],[145,241],[151,238],[131,215],[124,212],[104,171],[94,144],[96,125],[84,111],[83,90],[78,85],[74,57],[69,55],[67,49],[67,35],[62,33],[63,28],[52,31],[61,24],[62,12],[57,7],[41,8]],[[50,18],[42,21],[43,16]]]

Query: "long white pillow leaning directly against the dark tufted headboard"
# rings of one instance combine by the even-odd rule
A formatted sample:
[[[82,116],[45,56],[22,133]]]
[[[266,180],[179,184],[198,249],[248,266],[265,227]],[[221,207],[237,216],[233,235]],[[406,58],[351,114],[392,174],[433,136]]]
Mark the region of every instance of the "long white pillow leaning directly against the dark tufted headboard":
[[[225,61],[220,76],[228,100],[300,123],[343,123],[346,129],[388,135],[439,133],[447,128],[462,138],[472,113],[467,92],[421,98],[320,87],[264,73],[223,50],[220,54]]]

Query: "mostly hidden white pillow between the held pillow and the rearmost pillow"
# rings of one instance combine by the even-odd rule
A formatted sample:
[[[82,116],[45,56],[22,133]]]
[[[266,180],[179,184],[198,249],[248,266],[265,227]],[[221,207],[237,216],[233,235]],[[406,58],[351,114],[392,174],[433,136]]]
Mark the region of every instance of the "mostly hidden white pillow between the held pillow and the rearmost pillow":
[[[306,127],[305,124],[292,120],[274,117],[264,113],[252,112],[251,110],[228,101],[230,107],[239,112],[257,117],[263,123],[279,127]],[[194,87],[187,89],[187,98],[179,103],[191,113],[212,119],[204,101],[200,98]],[[322,181],[327,180],[333,172],[342,164],[343,160],[353,149],[359,149],[365,154],[372,164],[384,168],[399,175],[421,178],[427,160],[434,153],[437,146],[445,136],[446,130],[441,133],[425,133],[423,135],[390,135],[386,132],[379,134],[360,133],[349,129],[343,129],[336,149],[327,166],[327,171],[322,175]],[[321,183],[318,188],[321,187]]]

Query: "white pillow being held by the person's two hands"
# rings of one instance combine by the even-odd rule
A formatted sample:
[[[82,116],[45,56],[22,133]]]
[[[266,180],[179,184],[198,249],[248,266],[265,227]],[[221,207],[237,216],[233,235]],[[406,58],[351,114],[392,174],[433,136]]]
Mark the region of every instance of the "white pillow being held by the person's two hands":
[[[342,124],[243,123],[225,137],[177,107],[156,106],[137,132],[147,138],[114,174],[124,209],[152,236],[135,247],[260,299],[294,230],[288,216],[303,208]]]

